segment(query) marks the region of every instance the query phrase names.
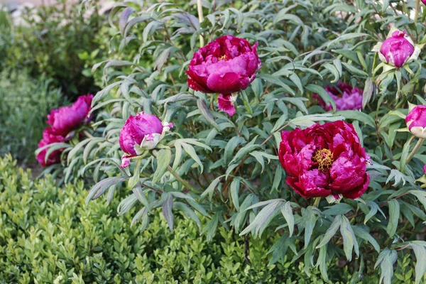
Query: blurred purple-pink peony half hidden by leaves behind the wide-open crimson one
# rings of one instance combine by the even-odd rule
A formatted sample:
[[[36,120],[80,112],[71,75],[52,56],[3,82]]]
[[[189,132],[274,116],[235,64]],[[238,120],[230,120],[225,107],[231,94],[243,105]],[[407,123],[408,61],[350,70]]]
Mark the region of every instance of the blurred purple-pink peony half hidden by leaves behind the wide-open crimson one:
[[[336,102],[336,109],[338,111],[362,109],[362,89],[352,87],[350,84],[344,82],[337,82],[337,86],[327,86],[325,90],[334,99],[334,102]],[[317,98],[320,106],[326,111],[333,109],[332,104],[326,105],[317,94],[314,94],[314,97]]]

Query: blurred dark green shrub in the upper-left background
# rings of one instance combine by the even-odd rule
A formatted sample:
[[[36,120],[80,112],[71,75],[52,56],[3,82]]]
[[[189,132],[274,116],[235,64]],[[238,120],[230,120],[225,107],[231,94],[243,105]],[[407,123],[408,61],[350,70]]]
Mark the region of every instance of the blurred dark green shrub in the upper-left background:
[[[96,92],[92,76],[82,76],[84,60],[79,55],[98,48],[95,38],[106,19],[98,10],[96,1],[84,13],[79,4],[66,0],[23,9],[13,26],[4,65],[50,78],[70,99]]]

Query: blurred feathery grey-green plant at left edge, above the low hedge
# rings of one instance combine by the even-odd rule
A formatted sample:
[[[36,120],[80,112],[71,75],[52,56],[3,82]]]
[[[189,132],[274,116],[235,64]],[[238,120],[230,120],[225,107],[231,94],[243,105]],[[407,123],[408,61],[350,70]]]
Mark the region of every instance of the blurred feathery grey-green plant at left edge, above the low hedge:
[[[46,115],[66,104],[52,80],[33,78],[23,70],[0,73],[0,155],[11,153],[21,163],[35,162]]]

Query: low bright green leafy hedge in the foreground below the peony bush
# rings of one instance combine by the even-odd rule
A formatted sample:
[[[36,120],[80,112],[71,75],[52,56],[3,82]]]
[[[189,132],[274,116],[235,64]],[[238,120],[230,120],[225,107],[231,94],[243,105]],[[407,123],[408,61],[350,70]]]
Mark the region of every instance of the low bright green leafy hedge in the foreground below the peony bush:
[[[268,266],[276,234],[251,241],[246,263],[244,238],[231,231],[207,242],[189,219],[178,217],[170,232],[156,212],[141,234],[131,214],[117,217],[117,201],[87,207],[85,194],[82,180],[63,188],[51,176],[33,182],[10,155],[0,158],[0,283],[324,283],[288,258]],[[330,269],[342,283],[351,278]]]

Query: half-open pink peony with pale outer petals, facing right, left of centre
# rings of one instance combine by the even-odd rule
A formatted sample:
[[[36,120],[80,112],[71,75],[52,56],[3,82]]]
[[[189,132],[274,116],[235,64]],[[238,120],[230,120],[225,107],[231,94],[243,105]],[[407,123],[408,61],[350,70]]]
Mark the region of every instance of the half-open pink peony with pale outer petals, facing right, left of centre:
[[[155,148],[171,127],[173,124],[162,124],[153,114],[139,112],[136,116],[129,116],[120,132],[120,147],[127,154],[121,158],[121,168],[129,165],[131,157]]]

